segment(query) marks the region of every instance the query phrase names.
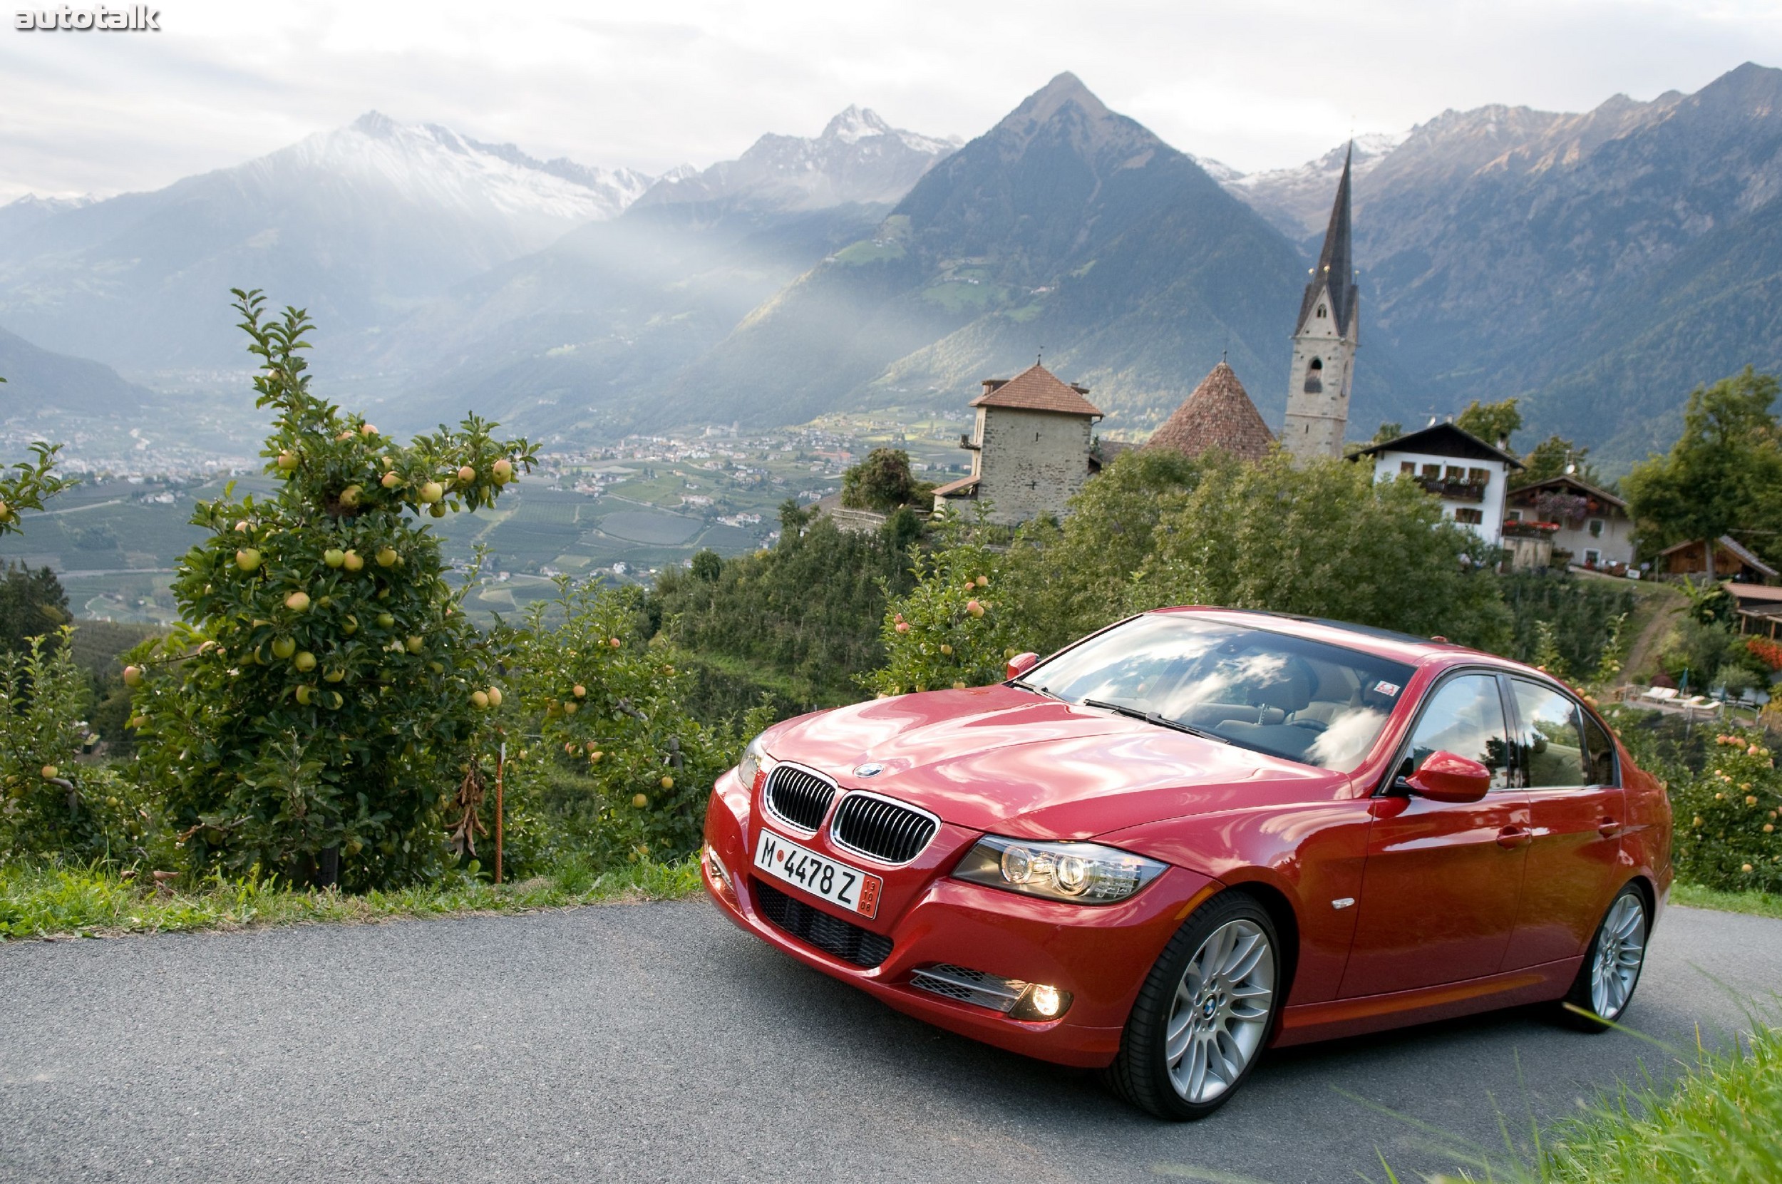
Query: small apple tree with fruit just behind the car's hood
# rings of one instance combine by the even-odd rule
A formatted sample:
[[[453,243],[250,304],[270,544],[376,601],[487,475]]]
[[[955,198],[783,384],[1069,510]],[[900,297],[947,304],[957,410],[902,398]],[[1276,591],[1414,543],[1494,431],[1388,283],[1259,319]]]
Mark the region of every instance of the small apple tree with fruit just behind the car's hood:
[[[991,599],[1001,556],[957,517],[941,535],[941,547],[914,556],[916,587],[886,606],[886,665],[861,679],[880,695],[996,683],[1014,654],[1016,624]]]

